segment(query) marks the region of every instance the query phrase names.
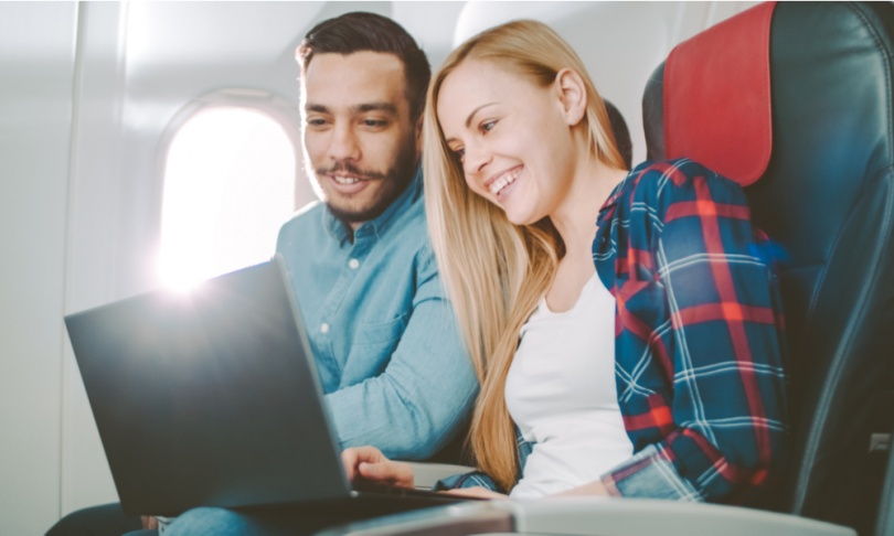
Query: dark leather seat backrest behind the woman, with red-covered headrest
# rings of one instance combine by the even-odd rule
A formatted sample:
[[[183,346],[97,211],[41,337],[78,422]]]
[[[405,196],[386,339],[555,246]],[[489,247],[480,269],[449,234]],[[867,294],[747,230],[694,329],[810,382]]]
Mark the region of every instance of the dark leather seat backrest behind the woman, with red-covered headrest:
[[[764,54],[771,130],[759,140],[770,151],[757,176],[731,178],[756,179],[746,186],[753,218],[781,260],[794,443],[775,506],[872,534],[894,429],[894,4],[779,2],[753,10],[767,10],[770,22]],[[745,34],[757,33],[764,23],[752,10],[726,22],[714,33],[741,32],[739,23],[751,25]],[[707,116],[673,109],[669,85],[688,76],[666,72],[671,60],[699,76],[728,77],[762,54],[760,46],[701,37],[678,49],[706,57],[677,61],[675,50],[647,84],[650,159],[701,154],[704,141],[681,131],[711,121],[735,127],[741,119],[731,114],[754,106],[759,92],[752,85],[719,84],[722,93],[703,100],[714,103]],[[760,159],[759,132],[759,126],[726,128],[727,138],[710,144],[714,153],[757,147],[746,160]],[[714,167],[710,158],[698,159]]]

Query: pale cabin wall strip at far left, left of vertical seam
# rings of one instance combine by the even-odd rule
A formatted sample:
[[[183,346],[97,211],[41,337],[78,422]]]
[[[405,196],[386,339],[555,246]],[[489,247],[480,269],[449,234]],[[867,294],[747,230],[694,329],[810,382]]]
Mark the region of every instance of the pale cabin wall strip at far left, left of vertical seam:
[[[58,516],[75,3],[0,4],[0,534]]]

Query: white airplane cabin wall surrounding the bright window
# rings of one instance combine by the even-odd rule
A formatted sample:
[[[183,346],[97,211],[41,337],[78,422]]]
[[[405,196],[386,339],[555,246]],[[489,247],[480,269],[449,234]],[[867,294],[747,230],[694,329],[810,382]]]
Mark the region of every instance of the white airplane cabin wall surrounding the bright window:
[[[472,33],[530,17],[578,51],[639,161],[648,75],[754,3],[0,2],[0,534],[116,500],[62,317],[158,285],[163,153],[190,110],[258,106],[297,144],[294,50],[316,22],[393,17],[437,67]],[[298,207],[313,194],[296,180]]]

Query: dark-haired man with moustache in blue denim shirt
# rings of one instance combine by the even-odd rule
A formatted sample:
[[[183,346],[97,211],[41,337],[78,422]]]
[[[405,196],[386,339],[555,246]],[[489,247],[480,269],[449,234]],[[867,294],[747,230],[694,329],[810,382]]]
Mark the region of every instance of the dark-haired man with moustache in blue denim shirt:
[[[297,60],[306,162],[322,202],[283,226],[277,251],[341,447],[426,459],[462,428],[478,388],[425,223],[428,63],[403,28],[372,13],[318,24]],[[49,535],[100,534],[70,519],[78,514]]]

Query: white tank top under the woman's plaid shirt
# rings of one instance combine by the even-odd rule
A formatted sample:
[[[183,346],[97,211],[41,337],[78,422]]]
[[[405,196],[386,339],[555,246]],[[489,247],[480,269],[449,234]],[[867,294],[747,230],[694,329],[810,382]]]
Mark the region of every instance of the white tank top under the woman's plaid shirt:
[[[536,443],[514,499],[594,482],[632,454],[615,386],[615,298],[597,276],[568,311],[554,313],[541,300],[522,326],[505,403]]]

